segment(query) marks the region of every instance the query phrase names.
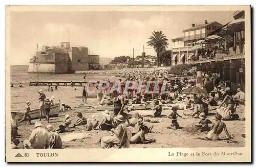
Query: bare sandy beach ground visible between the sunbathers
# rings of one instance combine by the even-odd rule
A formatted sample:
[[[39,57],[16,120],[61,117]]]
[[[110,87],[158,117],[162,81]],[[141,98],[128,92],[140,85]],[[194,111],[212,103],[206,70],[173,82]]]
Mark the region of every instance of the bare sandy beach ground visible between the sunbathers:
[[[97,105],[97,100],[90,99],[89,104]],[[72,111],[60,113],[58,117],[50,118],[50,124],[57,128],[58,125],[61,124],[61,122],[65,119],[65,114],[69,114],[72,118],[72,123],[77,118],[77,113],[81,112],[83,116],[86,118],[91,118],[92,115],[97,115],[98,120],[101,120],[102,114],[99,111],[96,111],[95,109],[87,109],[86,105],[81,108],[76,108]],[[244,106],[240,106],[237,108],[237,111],[240,115],[240,117],[244,116]],[[162,115],[167,115],[170,111],[169,110],[163,110]],[[182,110],[179,110],[178,113],[182,114]],[[208,116],[209,120],[212,120],[214,118],[214,112],[211,112]],[[145,117],[148,118],[148,117]],[[151,118],[152,119],[152,118]],[[245,138],[241,136],[241,134],[245,133],[245,121],[224,121],[227,125],[227,129],[229,134],[234,135],[234,139],[238,141],[238,143],[228,143],[227,140],[222,141],[205,141],[205,140],[199,140],[196,139],[196,137],[205,137],[207,133],[203,132],[196,132],[196,133],[189,133],[184,130],[184,127],[188,124],[192,124],[195,122],[198,122],[199,119],[196,118],[186,118],[178,119],[179,125],[182,127],[182,129],[178,130],[172,130],[167,129],[166,127],[169,126],[170,120],[166,117],[161,118],[154,118],[154,120],[159,120],[160,123],[146,123],[148,125],[154,125],[153,133],[146,134],[146,139],[156,138],[156,142],[152,144],[137,144],[137,145],[131,145],[131,148],[180,148],[180,147],[190,147],[190,148],[196,148],[196,147],[244,147],[245,146]],[[33,120],[32,123],[35,123],[36,120]],[[41,122],[43,127],[46,127],[48,124],[46,121]],[[98,143],[99,139],[103,136],[109,135],[110,131],[99,131],[99,130],[92,130],[92,131],[84,131],[81,129],[82,126],[78,126],[76,128],[70,128],[70,132],[67,133],[60,133],[60,136],[71,134],[71,133],[88,133],[90,137],[84,138],[82,140],[77,141],[69,141],[69,142],[63,142],[63,149],[76,149],[76,148],[100,148],[100,144]],[[30,133],[34,129],[34,125],[29,125],[28,122],[20,123],[19,126],[19,134],[22,135],[22,137],[19,138],[19,140],[28,139],[30,136]],[[135,127],[132,131],[136,131],[138,127]],[[225,132],[223,131],[220,135],[220,137],[226,137]]]

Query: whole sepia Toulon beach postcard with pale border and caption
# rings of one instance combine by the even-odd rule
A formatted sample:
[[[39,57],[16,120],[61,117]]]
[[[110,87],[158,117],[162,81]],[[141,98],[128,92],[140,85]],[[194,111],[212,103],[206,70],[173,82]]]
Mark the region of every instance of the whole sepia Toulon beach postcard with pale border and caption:
[[[251,162],[250,16],[6,6],[6,161]]]

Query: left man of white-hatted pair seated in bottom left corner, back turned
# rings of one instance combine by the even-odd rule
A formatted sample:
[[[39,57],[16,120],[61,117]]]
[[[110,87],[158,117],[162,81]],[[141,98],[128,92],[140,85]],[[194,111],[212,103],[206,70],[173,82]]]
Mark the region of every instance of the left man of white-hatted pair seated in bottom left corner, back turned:
[[[35,128],[29,137],[29,142],[33,149],[47,149],[50,144],[47,130],[42,128],[39,121],[35,122]]]

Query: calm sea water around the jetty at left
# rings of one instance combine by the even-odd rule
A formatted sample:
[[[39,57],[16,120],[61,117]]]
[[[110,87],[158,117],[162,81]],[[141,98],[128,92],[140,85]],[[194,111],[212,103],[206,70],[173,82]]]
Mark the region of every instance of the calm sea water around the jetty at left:
[[[11,87],[11,110],[25,110],[26,102],[31,102],[31,109],[36,109],[39,106],[39,94],[38,90],[42,89],[46,97],[55,97],[54,102],[57,103],[60,100],[61,103],[68,104],[71,107],[75,107],[81,103],[81,99],[75,98],[75,96],[82,96],[82,86],[59,86],[58,90],[48,91],[48,86],[29,86],[30,81],[37,81],[37,74],[28,74],[27,65],[12,65],[11,66],[11,83],[14,87]],[[110,79],[111,82],[117,81],[118,78],[113,74],[88,74],[86,75],[86,81],[97,81]],[[39,74],[39,81],[84,81],[83,74]],[[22,83],[23,87],[19,87],[19,83]],[[76,90],[75,90],[76,89]],[[90,95],[90,94],[89,94]],[[90,103],[93,99],[88,99]]]

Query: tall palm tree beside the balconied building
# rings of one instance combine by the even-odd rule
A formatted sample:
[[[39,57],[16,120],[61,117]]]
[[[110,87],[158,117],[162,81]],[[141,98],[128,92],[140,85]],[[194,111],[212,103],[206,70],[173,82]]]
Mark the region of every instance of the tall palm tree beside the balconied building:
[[[154,50],[157,53],[157,66],[160,66],[159,54],[164,51],[166,47],[169,45],[167,42],[168,39],[163,34],[162,31],[154,31],[150,37],[148,37],[150,41],[147,41],[148,46],[153,46]]]

